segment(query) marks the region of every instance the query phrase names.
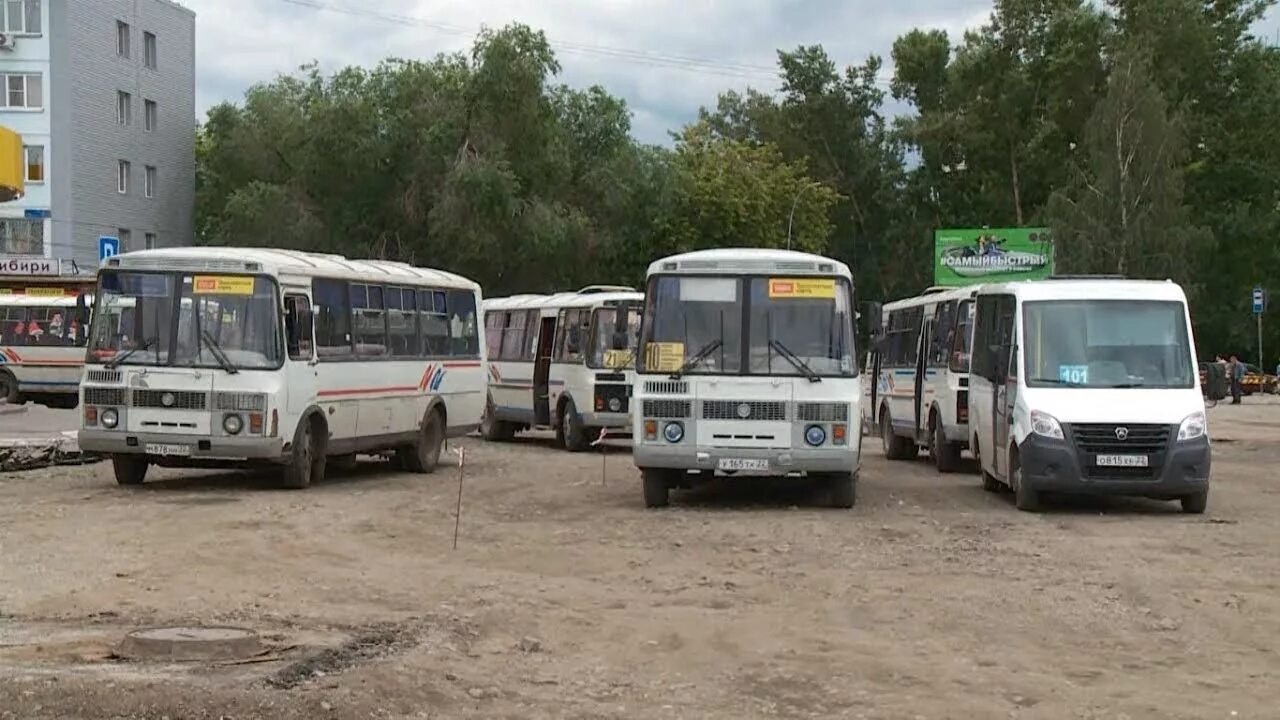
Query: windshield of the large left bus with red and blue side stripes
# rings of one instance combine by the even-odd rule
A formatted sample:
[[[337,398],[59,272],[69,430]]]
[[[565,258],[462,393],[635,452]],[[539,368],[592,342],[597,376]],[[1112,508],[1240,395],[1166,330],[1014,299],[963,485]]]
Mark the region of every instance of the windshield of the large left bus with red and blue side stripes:
[[[280,366],[280,314],[266,277],[104,272],[93,315],[91,361]]]

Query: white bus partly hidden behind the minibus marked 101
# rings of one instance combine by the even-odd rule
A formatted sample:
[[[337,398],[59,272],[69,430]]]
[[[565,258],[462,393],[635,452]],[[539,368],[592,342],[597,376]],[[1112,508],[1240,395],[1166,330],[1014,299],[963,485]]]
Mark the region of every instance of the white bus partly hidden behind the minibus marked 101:
[[[863,378],[868,425],[884,456],[910,460],[920,447],[941,473],[969,446],[969,336],[977,287],[931,288],[883,306]]]

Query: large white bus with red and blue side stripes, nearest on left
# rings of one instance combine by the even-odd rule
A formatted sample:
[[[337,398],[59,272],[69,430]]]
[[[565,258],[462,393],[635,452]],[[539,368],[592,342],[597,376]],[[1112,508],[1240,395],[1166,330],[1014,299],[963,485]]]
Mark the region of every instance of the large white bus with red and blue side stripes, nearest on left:
[[[99,270],[79,445],[120,484],[150,465],[283,465],[394,452],[429,473],[484,410],[480,288],[339,255],[200,247],[129,252]]]

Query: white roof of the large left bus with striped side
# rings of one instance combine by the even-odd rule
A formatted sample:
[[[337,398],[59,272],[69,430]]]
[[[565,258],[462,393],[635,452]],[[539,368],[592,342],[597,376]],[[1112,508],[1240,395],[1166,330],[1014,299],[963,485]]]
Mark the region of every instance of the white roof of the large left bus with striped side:
[[[342,255],[274,247],[166,247],[163,250],[138,250],[108,258],[102,261],[102,268],[186,270],[197,273],[266,273],[271,275],[325,277],[445,288],[480,288],[477,283],[462,275],[433,268],[417,268],[394,260],[351,260]]]

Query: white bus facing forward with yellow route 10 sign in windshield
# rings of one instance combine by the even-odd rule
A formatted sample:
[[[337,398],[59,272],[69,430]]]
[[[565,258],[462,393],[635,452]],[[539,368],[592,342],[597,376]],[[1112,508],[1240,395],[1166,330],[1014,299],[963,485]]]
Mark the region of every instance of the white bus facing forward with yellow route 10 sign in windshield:
[[[808,475],[855,501],[852,275],[818,255],[704,250],[649,266],[632,392],[649,507],[714,475]]]

